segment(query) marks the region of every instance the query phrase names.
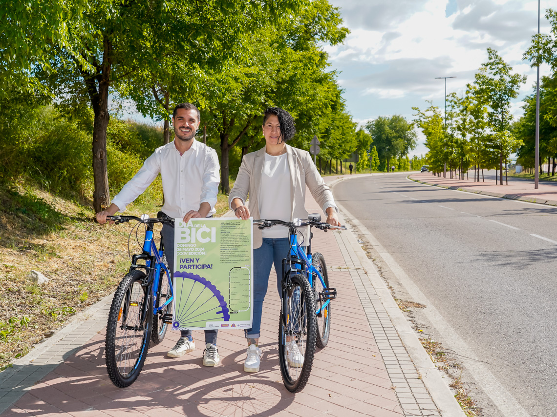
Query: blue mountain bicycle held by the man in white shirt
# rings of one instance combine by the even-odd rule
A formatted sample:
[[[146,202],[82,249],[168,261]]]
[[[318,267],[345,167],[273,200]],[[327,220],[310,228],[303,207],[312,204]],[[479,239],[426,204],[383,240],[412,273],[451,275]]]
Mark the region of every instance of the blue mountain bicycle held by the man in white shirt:
[[[157,249],[153,239],[153,225],[174,225],[174,219],[159,212],[157,219],[142,215],[108,216],[107,220],[115,224],[138,221],[130,237],[134,230],[137,237],[139,226],[145,226],[143,251],[131,256],[130,271],[116,289],[106,325],[106,368],[113,384],[125,388],[143,369],[149,342],[160,343],[172,323],[172,280],[163,240]]]

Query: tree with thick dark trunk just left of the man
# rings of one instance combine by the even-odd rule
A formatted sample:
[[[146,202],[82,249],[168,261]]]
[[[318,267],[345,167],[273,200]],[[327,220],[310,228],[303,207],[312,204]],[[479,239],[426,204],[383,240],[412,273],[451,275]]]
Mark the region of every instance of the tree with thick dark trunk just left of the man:
[[[52,51],[48,59],[53,71],[41,68],[40,73],[50,76],[58,97],[66,102],[89,102],[94,111],[94,209],[99,211],[110,204],[106,171],[110,91],[116,92],[129,83],[135,72],[143,68],[165,68],[177,56],[188,63],[215,63],[216,66],[229,58],[245,59],[249,51],[248,34],[254,28],[271,19],[280,22],[305,3],[307,0],[271,3],[263,0],[202,3],[99,0],[81,14],[79,31],[64,27],[73,43],[68,48],[66,43],[53,38],[47,44]],[[89,34],[85,41],[79,40],[82,27]],[[72,61],[73,65],[67,64]],[[164,78],[164,73],[161,76]]]

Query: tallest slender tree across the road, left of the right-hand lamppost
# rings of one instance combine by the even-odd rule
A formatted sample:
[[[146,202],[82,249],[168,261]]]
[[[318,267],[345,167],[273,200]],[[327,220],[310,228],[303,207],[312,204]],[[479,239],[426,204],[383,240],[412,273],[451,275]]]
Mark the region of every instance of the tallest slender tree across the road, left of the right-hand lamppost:
[[[500,133],[492,138],[493,146],[499,150],[500,184],[502,185],[505,145],[501,141],[505,136],[501,133],[510,128],[512,122],[511,100],[518,96],[520,85],[526,82],[526,76],[513,74],[512,67],[497,54],[495,49],[487,48],[487,53],[488,60],[476,73],[474,83],[478,87],[478,94],[483,96],[485,103],[490,108],[487,113],[487,121],[491,130]]]

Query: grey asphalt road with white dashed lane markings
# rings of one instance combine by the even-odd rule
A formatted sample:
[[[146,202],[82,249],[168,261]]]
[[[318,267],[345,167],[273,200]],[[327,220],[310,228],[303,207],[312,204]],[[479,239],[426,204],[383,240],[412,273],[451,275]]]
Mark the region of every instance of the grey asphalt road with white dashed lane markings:
[[[334,193],[527,413],[557,415],[557,208],[396,174]]]

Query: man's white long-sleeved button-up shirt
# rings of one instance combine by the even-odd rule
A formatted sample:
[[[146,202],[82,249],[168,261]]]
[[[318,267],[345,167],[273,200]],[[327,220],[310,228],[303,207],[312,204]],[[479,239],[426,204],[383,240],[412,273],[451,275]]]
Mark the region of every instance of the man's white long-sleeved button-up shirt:
[[[160,172],[165,214],[182,218],[190,210],[199,210],[202,202],[208,202],[211,205],[208,216],[213,215],[220,182],[217,152],[195,139],[192,141],[192,146],[182,156],[174,141],[157,148],[112,202],[124,211]]]

